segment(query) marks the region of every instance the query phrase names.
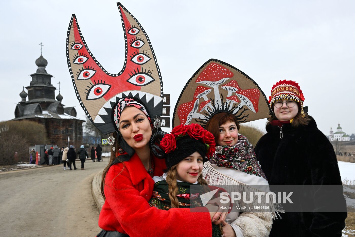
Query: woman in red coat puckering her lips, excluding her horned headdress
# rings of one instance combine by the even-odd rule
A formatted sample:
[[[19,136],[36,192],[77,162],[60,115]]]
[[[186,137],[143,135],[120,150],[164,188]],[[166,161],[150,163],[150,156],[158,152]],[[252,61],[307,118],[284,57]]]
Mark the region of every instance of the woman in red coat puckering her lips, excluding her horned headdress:
[[[105,198],[99,217],[103,236],[212,236],[212,222],[220,224],[225,216],[172,208],[169,211],[149,206],[154,188],[153,176],[161,176],[164,159],[151,155],[149,139],[154,130],[147,110],[140,102],[122,98],[114,109],[118,128],[109,165],[104,169],[101,191]],[[193,223],[193,225],[191,224]],[[119,232],[119,233],[118,233]]]

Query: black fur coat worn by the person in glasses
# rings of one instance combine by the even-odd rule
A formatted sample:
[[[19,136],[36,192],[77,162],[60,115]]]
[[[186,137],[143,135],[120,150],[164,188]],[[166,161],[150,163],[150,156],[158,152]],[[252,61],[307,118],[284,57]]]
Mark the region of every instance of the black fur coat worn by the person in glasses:
[[[273,184],[337,184],[341,185],[337,158],[328,138],[317,128],[313,118],[306,126],[282,126],[280,138],[278,126],[266,126],[267,133],[260,138],[255,153],[269,181]],[[341,189],[341,190],[340,190]],[[324,193],[332,193],[337,205],[346,208],[343,191],[319,188],[309,198],[310,205],[317,210],[329,208]],[[299,193],[293,199],[304,198]],[[299,196],[297,196],[299,195]],[[302,210],[298,206],[297,210]],[[342,236],[346,212],[287,212],[282,219],[274,220],[270,236]]]

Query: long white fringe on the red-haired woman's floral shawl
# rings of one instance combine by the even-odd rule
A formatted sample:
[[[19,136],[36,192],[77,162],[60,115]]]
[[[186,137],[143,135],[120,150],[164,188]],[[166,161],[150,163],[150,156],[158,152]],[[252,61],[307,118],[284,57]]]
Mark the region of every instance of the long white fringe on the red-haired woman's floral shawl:
[[[240,170],[238,170],[238,171],[241,172]],[[247,174],[247,173],[242,173],[242,174],[243,175],[251,175],[251,174]],[[253,193],[254,192],[262,192],[262,193],[269,192],[269,190],[259,190],[255,187],[253,187],[252,186],[253,184],[245,184],[237,179],[229,177],[228,175],[220,173],[209,162],[205,162],[203,165],[202,177],[204,180],[207,181],[207,183],[209,185],[218,185],[219,187],[224,188],[225,190],[227,190],[230,193],[237,192],[237,193],[243,194],[243,192],[245,192],[247,194],[246,200],[250,200],[250,193],[251,192],[253,192]],[[264,179],[262,177],[257,177],[257,176],[255,176],[255,178]],[[267,181],[266,181],[266,183],[267,183]],[[225,185],[229,185],[229,186],[225,186]],[[268,186],[267,186],[267,189],[268,189]],[[253,202],[251,202],[249,204],[243,202],[242,200],[239,200],[238,202],[239,202],[238,203],[239,206],[250,207],[250,209],[248,209],[250,211],[248,211],[248,212],[258,212],[258,211],[261,212],[261,210],[269,210],[267,212],[265,211],[264,213],[271,212],[272,218],[274,220],[277,219],[278,217],[281,218],[280,213],[285,212],[283,209],[280,209],[280,208],[282,208],[282,206],[280,206],[277,203],[273,203],[272,196],[269,196],[269,203],[268,204],[266,203],[266,195],[261,196],[261,204],[258,203],[258,198],[255,198],[255,196],[253,198]],[[236,204],[234,204],[234,205],[236,205]],[[269,206],[269,209],[252,209],[252,206]]]

